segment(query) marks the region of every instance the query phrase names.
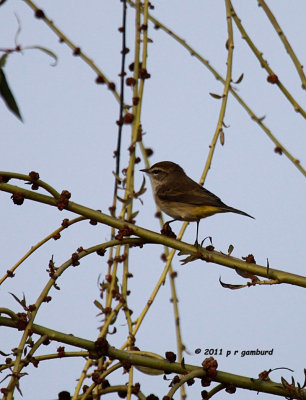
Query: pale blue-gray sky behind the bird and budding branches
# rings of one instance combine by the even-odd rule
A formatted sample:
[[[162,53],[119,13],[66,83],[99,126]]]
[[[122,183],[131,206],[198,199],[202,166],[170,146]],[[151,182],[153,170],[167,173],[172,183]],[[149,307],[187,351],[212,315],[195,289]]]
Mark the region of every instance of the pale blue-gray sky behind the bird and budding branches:
[[[225,76],[226,20],[223,1],[156,1],[152,14],[184,38],[204,58]],[[287,35],[301,63],[305,64],[306,3],[289,1],[269,2],[272,11]],[[121,3],[107,1],[40,1],[60,29],[92,58],[105,74],[119,87],[121,36]],[[305,108],[305,92],[297,72],[283,45],[270,26],[257,2],[234,2],[234,6],[248,33],[263,52],[272,69],[295,99]],[[58,65],[37,50],[11,54],[5,72],[24,118],[20,123],[0,103],[2,136],[1,169],[28,173],[38,171],[40,177],[57,190],[67,189],[72,200],[108,212],[112,202],[116,147],[118,104],[105,86],[95,84],[95,74],[71,50],[59,44],[57,37],[24,3],[6,2],[0,8],[0,47],[14,47],[17,30],[16,13],[21,21],[19,42],[22,46],[40,45],[58,56]],[[128,9],[127,64],[132,62],[134,11]],[[195,57],[191,57],[178,43],[161,30],[149,27],[148,71],[142,125],[146,132],[145,146],[154,154],[152,163],[171,160],[182,165],[186,173],[198,180],[208,154],[208,146],[218,120],[220,101],[209,92],[221,94],[223,87]],[[233,79],[244,73],[237,86],[239,95],[264,122],[280,142],[306,165],[305,122],[285,99],[276,85],[266,81],[263,70],[239,32],[234,27]],[[126,89],[127,101],[131,93]],[[234,246],[236,257],[254,254],[256,262],[305,275],[305,177],[283,155],[274,153],[274,145],[250,119],[245,110],[230,96],[225,117],[225,145],[219,143],[205,187],[228,205],[242,209],[256,220],[235,214],[218,215],[203,220],[200,237],[212,236],[216,250],[227,252]],[[122,167],[127,165],[130,130],[125,128],[122,143]],[[142,182],[143,163],[136,167],[136,188]],[[19,183],[23,185],[22,183]],[[151,188],[143,196],[144,204],[135,202],[139,210],[137,224],[159,231],[154,218],[155,205]],[[14,206],[9,195],[0,194],[2,251],[1,276],[15,264],[31,246],[55,230],[68,212],[59,212],[45,205],[25,201]],[[196,224],[188,227],[184,240],[193,243]],[[180,223],[174,223],[178,232]],[[1,307],[19,312],[21,309],[9,292],[28,303],[36,301],[47,281],[45,272],[54,255],[57,265],[70,258],[79,246],[84,248],[109,240],[110,229],[82,222],[33,254],[1,287]],[[129,307],[138,314],[149,298],[162,270],[162,249],[145,246],[142,251],[132,249],[130,269],[134,278],[129,281],[132,291]],[[189,354],[185,361],[200,365],[205,349],[222,349],[216,357],[219,368],[235,374],[256,378],[269,368],[288,367],[275,371],[271,379],[287,380],[294,375],[302,383],[305,367],[305,292],[289,285],[260,286],[237,291],[224,289],[219,277],[229,283],[244,283],[232,270],[201,261],[181,266],[180,258],[173,261],[178,271],[176,280],[183,341]],[[44,305],[36,322],[47,327],[95,340],[100,325],[98,310],[93,301],[98,299],[97,281],[107,271],[107,258],[90,256],[77,268],[70,268],[59,280],[60,291],[52,290],[53,300]],[[122,264],[120,265],[120,268]],[[176,341],[169,282],[160,290],[152,305],[136,345],[142,350],[161,355],[176,352]],[[127,329],[119,318],[118,333],[110,337],[114,346],[125,341]],[[0,350],[9,352],[20,340],[20,332],[1,329]],[[162,337],[162,340],[160,339]],[[55,352],[58,345],[41,349]],[[194,350],[200,348],[201,354]],[[272,356],[245,356],[243,350],[271,350]],[[68,350],[68,346],[66,346]],[[238,350],[236,356],[226,357],[226,351]],[[2,362],[2,361],[1,361]],[[29,368],[29,376],[22,379],[24,398],[55,399],[61,390],[74,391],[84,360],[62,359],[41,363],[38,369]],[[161,377],[143,377],[135,373],[135,381],[143,382],[146,395],[154,392],[162,397],[168,382]],[[124,383],[121,373],[111,379],[112,384]],[[7,381],[1,384],[3,387]],[[33,386],[35,387],[33,392]],[[200,383],[188,388],[190,398],[199,396]],[[242,395],[242,391],[239,390]],[[256,398],[255,392],[243,392],[246,400]],[[16,393],[16,399],[19,395]],[[107,398],[107,397],[106,397]],[[111,397],[109,397],[111,398]],[[178,395],[176,396],[178,398]],[[261,395],[261,399],[271,398]]]

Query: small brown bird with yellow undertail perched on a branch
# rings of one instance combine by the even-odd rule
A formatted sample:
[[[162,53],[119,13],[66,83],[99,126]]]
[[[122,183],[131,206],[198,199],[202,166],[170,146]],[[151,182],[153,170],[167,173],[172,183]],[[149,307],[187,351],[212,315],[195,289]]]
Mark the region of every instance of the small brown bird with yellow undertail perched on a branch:
[[[229,207],[219,197],[204,189],[185,174],[183,168],[171,161],[161,161],[142,169],[151,178],[155,202],[174,221],[196,221],[198,245],[199,223],[216,213],[232,212],[254,218],[244,211]]]

